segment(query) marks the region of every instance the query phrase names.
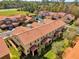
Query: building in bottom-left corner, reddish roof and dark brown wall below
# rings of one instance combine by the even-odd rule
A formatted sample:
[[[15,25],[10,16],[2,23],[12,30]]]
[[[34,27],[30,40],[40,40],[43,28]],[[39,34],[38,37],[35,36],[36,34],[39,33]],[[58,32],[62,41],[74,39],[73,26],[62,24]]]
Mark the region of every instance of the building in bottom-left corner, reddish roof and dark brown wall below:
[[[0,37],[0,59],[10,59],[9,49],[1,37]]]

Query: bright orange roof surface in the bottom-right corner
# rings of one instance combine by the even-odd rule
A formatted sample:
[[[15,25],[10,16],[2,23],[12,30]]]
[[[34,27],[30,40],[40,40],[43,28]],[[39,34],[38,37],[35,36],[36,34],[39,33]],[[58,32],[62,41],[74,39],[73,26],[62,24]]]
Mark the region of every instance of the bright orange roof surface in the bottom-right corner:
[[[79,59],[79,41],[71,48],[71,51],[65,55],[64,59]]]

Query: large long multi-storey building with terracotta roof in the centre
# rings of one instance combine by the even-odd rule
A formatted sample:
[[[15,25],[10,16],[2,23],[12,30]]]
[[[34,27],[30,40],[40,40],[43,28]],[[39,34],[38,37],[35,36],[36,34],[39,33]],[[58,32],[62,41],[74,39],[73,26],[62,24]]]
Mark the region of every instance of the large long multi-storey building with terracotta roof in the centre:
[[[12,39],[17,47],[21,47],[25,55],[41,54],[41,50],[60,37],[65,23],[61,20],[44,19],[31,26],[17,27],[12,31]]]

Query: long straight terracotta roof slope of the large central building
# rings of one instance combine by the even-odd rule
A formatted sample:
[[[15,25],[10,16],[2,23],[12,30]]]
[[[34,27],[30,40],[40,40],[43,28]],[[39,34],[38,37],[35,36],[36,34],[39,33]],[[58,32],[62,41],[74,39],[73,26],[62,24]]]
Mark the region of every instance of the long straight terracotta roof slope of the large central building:
[[[26,31],[25,33],[17,35],[17,37],[19,38],[19,40],[21,40],[21,42],[23,42],[24,45],[26,45],[42,37],[43,35],[46,35],[47,33],[54,31],[57,28],[64,26],[64,25],[65,23],[60,20],[51,21],[42,26],[32,28],[31,30]]]

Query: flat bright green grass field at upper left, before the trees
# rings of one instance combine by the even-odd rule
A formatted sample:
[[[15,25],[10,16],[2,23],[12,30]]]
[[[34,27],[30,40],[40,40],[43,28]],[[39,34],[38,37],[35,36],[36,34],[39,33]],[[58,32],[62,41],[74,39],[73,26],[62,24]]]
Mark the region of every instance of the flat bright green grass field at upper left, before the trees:
[[[33,13],[29,13],[26,11],[17,11],[17,9],[1,9],[0,10],[1,16],[13,16],[17,14],[21,14],[21,15],[32,14],[33,15]]]

